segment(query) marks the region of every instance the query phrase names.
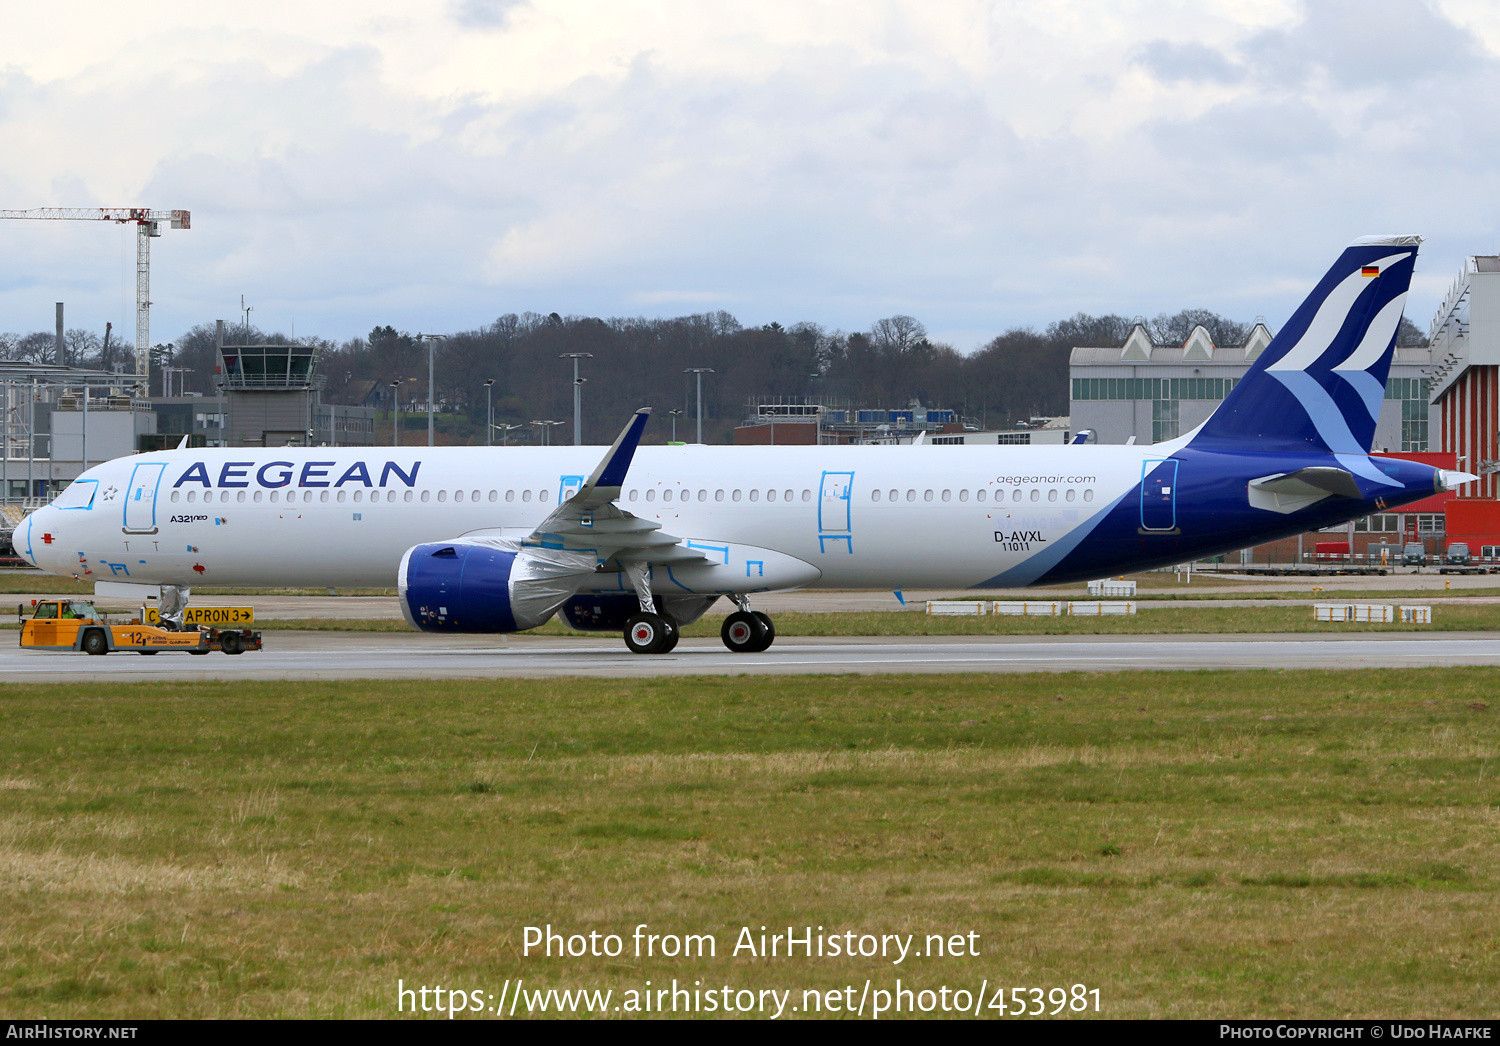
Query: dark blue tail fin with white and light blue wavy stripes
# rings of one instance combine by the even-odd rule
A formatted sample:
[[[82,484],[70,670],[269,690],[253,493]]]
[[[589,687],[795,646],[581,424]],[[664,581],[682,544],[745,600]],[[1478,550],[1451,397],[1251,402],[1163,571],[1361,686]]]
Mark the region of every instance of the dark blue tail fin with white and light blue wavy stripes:
[[[1420,242],[1354,240],[1192,446],[1368,455]]]

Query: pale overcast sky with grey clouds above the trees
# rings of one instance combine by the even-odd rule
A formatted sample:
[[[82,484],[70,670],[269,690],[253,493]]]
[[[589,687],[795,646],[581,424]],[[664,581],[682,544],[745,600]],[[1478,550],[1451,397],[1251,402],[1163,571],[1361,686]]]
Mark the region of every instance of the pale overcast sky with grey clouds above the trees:
[[[1500,248],[1478,0],[10,5],[0,207],[192,210],[153,341],[502,312],[1280,324],[1368,233]],[[0,330],[134,338],[134,231],[0,222]]]

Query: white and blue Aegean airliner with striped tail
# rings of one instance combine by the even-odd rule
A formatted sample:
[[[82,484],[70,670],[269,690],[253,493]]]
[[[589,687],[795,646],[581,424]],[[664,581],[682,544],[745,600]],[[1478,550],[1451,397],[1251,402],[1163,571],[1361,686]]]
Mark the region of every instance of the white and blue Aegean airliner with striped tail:
[[[994,588],[1182,563],[1468,482],[1371,456],[1418,237],[1358,240],[1215,414],[1156,446],[178,449],[84,473],[16,528],[52,573],[160,587],[384,587],[428,632],[558,611],[664,653],[717,599]]]

